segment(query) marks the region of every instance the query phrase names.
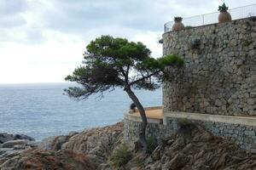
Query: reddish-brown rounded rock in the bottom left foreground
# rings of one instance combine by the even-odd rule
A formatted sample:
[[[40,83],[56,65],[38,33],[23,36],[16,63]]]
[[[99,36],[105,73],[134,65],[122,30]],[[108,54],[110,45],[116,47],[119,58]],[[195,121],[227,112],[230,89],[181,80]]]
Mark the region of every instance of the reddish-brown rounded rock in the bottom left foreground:
[[[72,150],[26,150],[5,161],[1,170],[95,170],[90,158]]]

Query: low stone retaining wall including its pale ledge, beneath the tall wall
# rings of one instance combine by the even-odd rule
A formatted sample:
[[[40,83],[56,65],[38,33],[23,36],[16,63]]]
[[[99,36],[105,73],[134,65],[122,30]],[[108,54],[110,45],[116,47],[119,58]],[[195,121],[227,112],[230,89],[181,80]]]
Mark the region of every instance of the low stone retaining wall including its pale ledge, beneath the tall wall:
[[[243,149],[250,150],[256,147],[256,119],[250,120],[249,118],[245,118],[243,121],[243,117],[215,115],[201,119],[200,115],[203,114],[181,112],[173,116],[166,116],[164,124],[159,120],[149,118],[146,135],[147,137],[153,136],[155,139],[165,139],[176,132],[181,124],[194,123],[201,125],[201,127],[204,127],[215,136],[230,139]],[[231,120],[225,121],[229,119]],[[126,115],[124,123],[124,139],[126,144],[132,147],[138,139],[142,122],[140,121],[140,117]]]

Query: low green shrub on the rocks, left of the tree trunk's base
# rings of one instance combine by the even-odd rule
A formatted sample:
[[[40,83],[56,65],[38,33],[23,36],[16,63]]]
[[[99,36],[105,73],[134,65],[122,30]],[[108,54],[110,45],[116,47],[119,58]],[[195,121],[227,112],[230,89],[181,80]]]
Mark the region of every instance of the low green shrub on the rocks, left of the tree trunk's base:
[[[110,157],[110,163],[113,164],[113,166],[122,167],[131,160],[131,156],[131,151],[129,151],[124,144],[113,151]]]

